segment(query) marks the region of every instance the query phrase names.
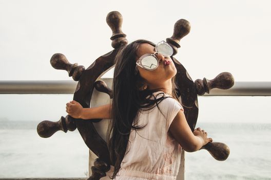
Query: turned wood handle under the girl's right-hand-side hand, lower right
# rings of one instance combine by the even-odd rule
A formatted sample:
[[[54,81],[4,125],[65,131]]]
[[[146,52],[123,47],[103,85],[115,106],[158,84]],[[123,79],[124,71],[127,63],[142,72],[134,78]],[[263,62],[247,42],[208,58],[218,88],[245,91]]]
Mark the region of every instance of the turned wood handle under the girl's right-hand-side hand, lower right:
[[[229,147],[222,142],[208,142],[201,149],[207,150],[217,160],[226,160],[229,156]]]

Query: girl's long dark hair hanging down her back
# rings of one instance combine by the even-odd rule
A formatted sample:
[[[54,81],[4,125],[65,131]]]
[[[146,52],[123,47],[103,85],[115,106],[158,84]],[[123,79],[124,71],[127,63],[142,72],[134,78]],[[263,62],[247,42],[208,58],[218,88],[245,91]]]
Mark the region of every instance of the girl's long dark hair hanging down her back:
[[[157,92],[157,89],[139,90],[143,79],[140,77],[139,72],[134,72],[138,48],[143,43],[155,46],[155,44],[149,41],[137,40],[122,48],[115,58],[111,120],[107,132],[111,162],[115,163],[113,175],[110,177],[112,179],[115,178],[120,170],[131,130],[138,130],[145,127],[140,127],[136,125],[137,122],[134,122],[139,110],[150,110],[163,99],[167,98],[165,96],[160,98],[154,97],[152,93]],[[175,78],[172,78],[172,81],[172,96],[178,99],[175,90]],[[146,98],[147,96],[149,98]]]

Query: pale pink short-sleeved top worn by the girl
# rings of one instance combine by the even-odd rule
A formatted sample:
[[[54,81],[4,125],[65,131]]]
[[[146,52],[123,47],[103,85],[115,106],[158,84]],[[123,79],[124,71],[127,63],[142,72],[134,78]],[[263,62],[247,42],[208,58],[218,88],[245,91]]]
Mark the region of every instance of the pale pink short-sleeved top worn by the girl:
[[[153,93],[157,98],[162,92]],[[169,96],[164,94],[165,96]],[[169,133],[169,126],[182,105],[169,97],[149,111],[141,111],[137,125],[143,129],[131,130],[128,148],[116,180],[176,179],[181,161],[181,146]]]

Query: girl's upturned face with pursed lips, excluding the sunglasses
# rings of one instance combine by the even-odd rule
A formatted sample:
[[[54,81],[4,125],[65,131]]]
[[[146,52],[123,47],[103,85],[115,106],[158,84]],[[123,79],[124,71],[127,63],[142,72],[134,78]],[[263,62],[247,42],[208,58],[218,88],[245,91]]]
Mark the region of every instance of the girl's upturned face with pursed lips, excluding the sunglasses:
[[[153,54],[154,52],[155,47],[152,45],[147,43],[141,44],[138,48],[137,60],[146,53]],[[171,82],[171,78],[177,74],[177,69],[170,57],[164,57],[160,53],[156,53],[155,56],[159,60],[158,68],[146,70],[142,67],[137,67],[139,68],[140,76],[145,80],[149,87],[161,87],[165,82],[168,82],[169,80]]]

